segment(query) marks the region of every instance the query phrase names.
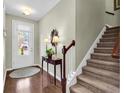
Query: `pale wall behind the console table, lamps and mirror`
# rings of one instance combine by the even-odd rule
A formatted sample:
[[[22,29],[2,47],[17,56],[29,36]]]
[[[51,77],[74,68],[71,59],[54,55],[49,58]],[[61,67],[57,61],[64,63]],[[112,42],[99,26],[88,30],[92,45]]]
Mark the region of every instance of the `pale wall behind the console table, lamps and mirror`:
[[[40,29],[40,56],[45,55],[44,39],[50,36],[52,29],[55,28],[59,32],[60,43],[58,45],[58,56],[62,58],[62,47],[68,45],[75,40],[75,0],[61,0],[43,19],[39,22]],[[49,47],[50,44],[49,44]],[[75,69],[75,49],[73,48],[67,54],[67,73],[71,67]],[[44,66],[46,68],[46,65]],[[51,73],[53,66],[50,65]],[[59,77],[59,67],[57,67],[57,76]]]

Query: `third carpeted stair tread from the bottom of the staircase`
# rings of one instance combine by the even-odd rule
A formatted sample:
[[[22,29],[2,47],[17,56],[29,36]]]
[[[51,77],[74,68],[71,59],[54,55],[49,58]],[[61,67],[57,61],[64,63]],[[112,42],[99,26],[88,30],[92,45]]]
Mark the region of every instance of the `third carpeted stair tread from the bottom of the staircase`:
[[[104,70],[104,69],[99,69],[99,68],[95,68],[95,67],[90,67],[90,66],[84,67],[83,70],[95,73],[95,74],[100,75],[100,76],[105,76],[108,78],[119,80],[119,74],[116,72],[112,72],[112,71],[108,71],[108,70]]]

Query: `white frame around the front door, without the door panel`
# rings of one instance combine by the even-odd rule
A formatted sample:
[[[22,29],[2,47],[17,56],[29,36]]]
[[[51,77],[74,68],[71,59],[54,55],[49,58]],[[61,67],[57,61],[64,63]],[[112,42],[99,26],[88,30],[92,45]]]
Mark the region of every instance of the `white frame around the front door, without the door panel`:
[[[27,24],[27,25],[30,25],[30,26],[32,26],[32,64],[30,65],[30,66],[32,66],[32,65],[34,65],[34,24],[33,23],[30,23],[30,22],[25,22],[25,21],[21,21],[21,20],[12,20],[12,69],[18,69],[18,68],[22,68],[22,67],[16,67],[16,65],[15,65],[15,61],[14,61],[14,56],[15,56],[15,54],[14,54],[14,43],[15,43],[15,41],[13,41],[14,40],[14,34],[15,34],[15,24],[18,24],[18,23],[22,23],[22,24]],[[26,67],[26,66],[23,66],[23,67]]]

